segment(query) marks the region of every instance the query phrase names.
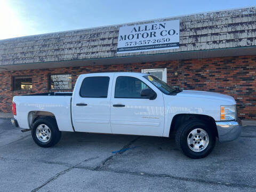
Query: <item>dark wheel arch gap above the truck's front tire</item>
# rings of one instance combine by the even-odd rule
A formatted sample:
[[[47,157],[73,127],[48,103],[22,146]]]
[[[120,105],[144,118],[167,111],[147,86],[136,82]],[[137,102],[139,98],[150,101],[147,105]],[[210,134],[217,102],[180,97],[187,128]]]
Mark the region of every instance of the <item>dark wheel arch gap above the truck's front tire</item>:
[[[206,122],[209,124],[212,129],[214,130],[214,134],[216,137],[218,137],[218,131],[217,131],[217,126],[215,123],[215,120],[213,117],[208,116],[208,115],[198,115],[198,114],[177,114],[172,118],[172,123],[170,126],[170,132],[169,132],[169,137],[172,134],[175,134],[176,131],[178,130],[179,126],[190,119],[199,119],[201,121]]]

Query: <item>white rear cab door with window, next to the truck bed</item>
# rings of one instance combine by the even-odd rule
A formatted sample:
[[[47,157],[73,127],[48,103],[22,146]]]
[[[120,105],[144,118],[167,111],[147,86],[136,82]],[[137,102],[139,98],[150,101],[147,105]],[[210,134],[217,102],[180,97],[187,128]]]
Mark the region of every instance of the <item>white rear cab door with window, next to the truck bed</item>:
[[[71,107],[75,131],[111,133],[110,95],[113,76],[87,74],[77,79]]]

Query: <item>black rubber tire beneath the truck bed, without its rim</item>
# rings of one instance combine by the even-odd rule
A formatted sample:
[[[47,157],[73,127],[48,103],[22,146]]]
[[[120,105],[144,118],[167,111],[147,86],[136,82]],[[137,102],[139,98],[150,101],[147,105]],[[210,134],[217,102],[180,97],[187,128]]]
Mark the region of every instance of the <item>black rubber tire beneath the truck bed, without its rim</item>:
[[[36,135],[37,127],[42,124],[47,125],[51,132],[51,137],[49,138],[49,140],[47,142],[40,141]],[[31,127],[31,134],[32,134],[32,138],[35,141],[35,143],[40,147],[52,147],[52,146],[56,145],[60,141],[60,138],[61,138],[61,132],[58,129],[58,125],[57,125],[55,119],[52,117],[42,117],[42,118],[37,119]]]

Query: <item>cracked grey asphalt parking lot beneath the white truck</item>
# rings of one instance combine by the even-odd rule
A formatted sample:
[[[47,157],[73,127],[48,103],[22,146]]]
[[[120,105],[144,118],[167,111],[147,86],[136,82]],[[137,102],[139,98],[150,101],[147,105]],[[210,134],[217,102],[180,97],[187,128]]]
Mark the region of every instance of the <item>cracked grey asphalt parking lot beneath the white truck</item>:
[[[173,138],[62,132],[52,148],[0,118],[0,191],[256,191],[256,127],[190,159]]]

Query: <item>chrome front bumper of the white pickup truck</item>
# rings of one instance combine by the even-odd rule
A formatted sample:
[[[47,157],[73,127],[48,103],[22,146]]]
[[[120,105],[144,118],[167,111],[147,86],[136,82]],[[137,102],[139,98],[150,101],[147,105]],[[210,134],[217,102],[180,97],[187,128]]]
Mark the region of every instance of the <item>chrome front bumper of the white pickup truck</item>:
[[[219,134],[219,141],[233,141],[239,137],[242,132],[241,121],[216,122]]]

